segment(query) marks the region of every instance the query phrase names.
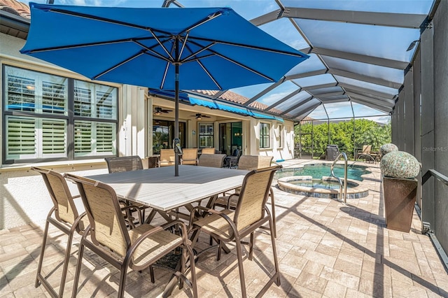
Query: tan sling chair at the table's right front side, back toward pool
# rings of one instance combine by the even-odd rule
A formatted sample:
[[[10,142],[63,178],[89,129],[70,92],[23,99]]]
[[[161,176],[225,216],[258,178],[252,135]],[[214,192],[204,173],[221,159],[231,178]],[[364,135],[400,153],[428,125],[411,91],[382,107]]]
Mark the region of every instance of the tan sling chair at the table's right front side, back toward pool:
[[[281,166],[272,166],[247,173],[244,177],[235,211],[230,209],[217,211],[215,209],[197,206],[190,213],[193,243],[197,240],[200,232],[209,234],[218,241],[218,260],[221,259],[222,243],[228,243],[230,241],[236,242],[241,297],[246,297],[246,282],[244,279],[243,255],[241,251],[241,244],[244,244],[242,243],[242,239],[250,236],[248,259],[252,260],[255,229],[258,229],[258,227],[261,227],[266,222],[269,222],[269,230],[271,231],[274,274],[269,278],[269,281],[258,295],[252,296],[261,297],[273,282],[276,285],[280,285],[279,263],[277,261],[274,233],[272,233],[273,221],[269,209],[266,206],[272,178],[274,177],[275,171],[280,168]],[[197,212],[201,211],[204,217],[196,220]]]

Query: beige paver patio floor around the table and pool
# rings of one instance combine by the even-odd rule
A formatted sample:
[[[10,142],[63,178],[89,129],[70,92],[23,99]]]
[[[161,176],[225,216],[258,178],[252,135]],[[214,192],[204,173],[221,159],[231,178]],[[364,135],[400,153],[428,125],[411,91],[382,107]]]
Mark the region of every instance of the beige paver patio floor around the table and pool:
[[[295,167],[309,161],[293,159],[283,166]],[[448,275],[428,236],[421,234],[421,221],[414,211],[409,233],[386,229],[378,164],[363,184],[370,194],[335,199],[289,194],[275,189],[277,239],[281,285],[272,285],[265,297],[448,297]],[[0,231],[0,297],[48,297],[43,286],[34,288],[43,222]],[[43,270],[57,287],[66,236],[51,230]],[[74,240],[78,243],[79,237]],[[208,248],[202,236],[197,250]],[[272,271],[269,234],[255,234],[253,262],[245,258],[248,294],[258,292]],[[70,297],[77,248],[73,248],[64,297]],[[116,297],[118,270],[86,252],[78,297]],[[261,269],[260,269],[261,266]],[[57,268],[53,270],[54,268]],[[130,272],[127,297],[158,297],[169,279],[155,269],[155,284],[148,271]],[[240,297],[235,250],[216,261],[209,250],[197,262],[200,297]],[[174,297],[191,297],[176,288]]]

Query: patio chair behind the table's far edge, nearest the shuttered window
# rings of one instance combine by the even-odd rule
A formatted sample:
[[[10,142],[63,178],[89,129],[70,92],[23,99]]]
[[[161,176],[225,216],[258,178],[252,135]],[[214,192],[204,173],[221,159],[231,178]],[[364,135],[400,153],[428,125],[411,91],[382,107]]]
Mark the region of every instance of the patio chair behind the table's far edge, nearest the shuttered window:
[[[141,158],[138,155],[106,157],[104,158],[104,160],[106,160],[107,169],[109,170],[109,173],[137,171],[143,169],[143,162],[141,162]],[[120,200],[120,201],[122,201],[125,204],[125,206],[131,205],[130,201],[126,200]],[[141,220],[145,220],[145,213],[146,213],[145,211],[149,207],[135,202],[132,202],[132,205],[138,207],[137,211],[140,213],[139,218],[141,218]],[[130,212],[132,213],[132,210]],[[133,226],[133,219],[130,217],[129,212],[128,215],[130,218],[130,223]],[[141,221],[140,224],[141,223],[143,223],[143,221]]]

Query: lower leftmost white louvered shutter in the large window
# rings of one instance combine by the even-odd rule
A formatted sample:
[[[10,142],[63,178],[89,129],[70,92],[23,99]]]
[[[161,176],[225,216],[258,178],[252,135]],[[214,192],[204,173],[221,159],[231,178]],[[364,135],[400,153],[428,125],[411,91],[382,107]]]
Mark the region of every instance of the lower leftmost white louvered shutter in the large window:
[[[36,156],[36,120],[32,118],[6,118],[6,155],[8,159]]]

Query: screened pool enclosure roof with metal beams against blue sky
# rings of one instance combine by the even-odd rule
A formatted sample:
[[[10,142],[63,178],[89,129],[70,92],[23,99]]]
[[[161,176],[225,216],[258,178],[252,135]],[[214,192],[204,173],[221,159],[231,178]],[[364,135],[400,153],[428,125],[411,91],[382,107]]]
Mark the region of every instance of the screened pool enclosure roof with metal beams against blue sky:
[[[337,119],[391,113],[437,3],[179,0],[165,1],[163,6],[230,6],[309,54],[277,83],[230,90],[247,98],[239,101],[242,106],[300,121],[307,116]],[[225,91],[212,94],[226,99]]]

